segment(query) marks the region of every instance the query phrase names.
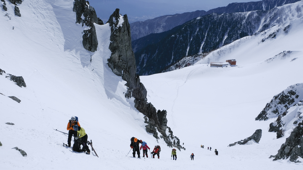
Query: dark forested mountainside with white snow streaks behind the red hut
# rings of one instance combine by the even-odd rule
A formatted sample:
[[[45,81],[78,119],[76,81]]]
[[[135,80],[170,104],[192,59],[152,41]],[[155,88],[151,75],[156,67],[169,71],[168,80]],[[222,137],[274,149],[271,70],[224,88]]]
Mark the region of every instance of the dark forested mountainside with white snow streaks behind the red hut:
[[[296,2],[270,11],[251,11],[205,15],[177,26],[163,34],[158,43],[143,43],[142,49],[135,52],[137,74],[159,73],[170,64],[177,63],[185,56],[208,53],[226,44],[262,32],[274,25],[301,18],[303,2]],[[147,36],[152,37],[153,34]],[[273,35],[274,36],[274,35]],[[151,38],[151,41],[154,39]],[[266,41],[266,40],[265,40]],[[132,43],[135,43],[132,42]]]

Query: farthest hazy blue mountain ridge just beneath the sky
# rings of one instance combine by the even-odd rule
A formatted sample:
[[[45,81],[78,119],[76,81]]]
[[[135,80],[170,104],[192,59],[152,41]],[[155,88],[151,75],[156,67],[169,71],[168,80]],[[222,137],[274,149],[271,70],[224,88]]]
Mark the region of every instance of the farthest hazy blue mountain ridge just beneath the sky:
[[[178,25],[182,25],[199,16],[208,15],[211,13],[216,14],[230,14],[235,12],[248,12],[265,10],[268,11],[272,8],[282,6],[285,4],[295,3],[300,0],[263,0],[258,2],[243,2],[231,3],[226,7],[219,7],[209,11],[194,11],[185,12],[183,14],[165,15],[146,21],[134,22],[131,24],[132,41],[144,37],[152,33],[161,33],[168,31]],[[135,44],[133,44],[135,45]],[[133,49],[135,49],[133,47]]]

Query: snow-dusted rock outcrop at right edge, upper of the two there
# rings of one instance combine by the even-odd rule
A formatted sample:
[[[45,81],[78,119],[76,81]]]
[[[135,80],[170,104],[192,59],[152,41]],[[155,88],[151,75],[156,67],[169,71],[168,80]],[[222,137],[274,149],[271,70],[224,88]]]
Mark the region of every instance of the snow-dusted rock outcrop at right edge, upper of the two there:
[[[269,118],[278,117],[285,113],[290,107],[303,100],[303,83],[297,83],[289,86],[281,93],[275,95],[271,99],[270,103],[267,103],[261,113],[255,118],[255,120],[267,120]],[[286,113],[285,113],[286,115]],[[271,124],[271,127],[277,126],[275,123]],[[270,129],[270,132],[277,131],[274,128]]]

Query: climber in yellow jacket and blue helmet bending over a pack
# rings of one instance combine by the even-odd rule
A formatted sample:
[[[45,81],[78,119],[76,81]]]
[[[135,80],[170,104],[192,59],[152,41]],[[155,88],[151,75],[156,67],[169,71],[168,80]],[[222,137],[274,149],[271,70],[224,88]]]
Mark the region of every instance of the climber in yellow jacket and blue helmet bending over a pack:
[[[87,145],[87,134],[85,133],[85,130],[83,127],[80,127],[78,125],[75,125],[73,127],[73,129],[75,131],[77,131],[77,137],[75,137],[75,143],[73,145],[73,151],[76,151],[76,152],[83,152],[83,151],[86,151],[86,154],[90,154],[90,150],[88,148],[88,145]],[[83,146],[82,149],[80,146]]]

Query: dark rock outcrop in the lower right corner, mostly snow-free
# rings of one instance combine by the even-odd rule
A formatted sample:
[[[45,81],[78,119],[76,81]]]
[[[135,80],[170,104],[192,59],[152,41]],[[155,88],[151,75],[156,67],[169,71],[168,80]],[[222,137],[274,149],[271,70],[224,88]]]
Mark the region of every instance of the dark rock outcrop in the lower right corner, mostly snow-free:
[[[279,159],[288,159],[291,162],[300,162],[297,159],[303,158],[303,122],[300,122],[297,127],[291,132],[290,136],[286,138],[286,142],[281,145],[278,154],[273,161]],[[271,158],[270,157],[270,158]]]

